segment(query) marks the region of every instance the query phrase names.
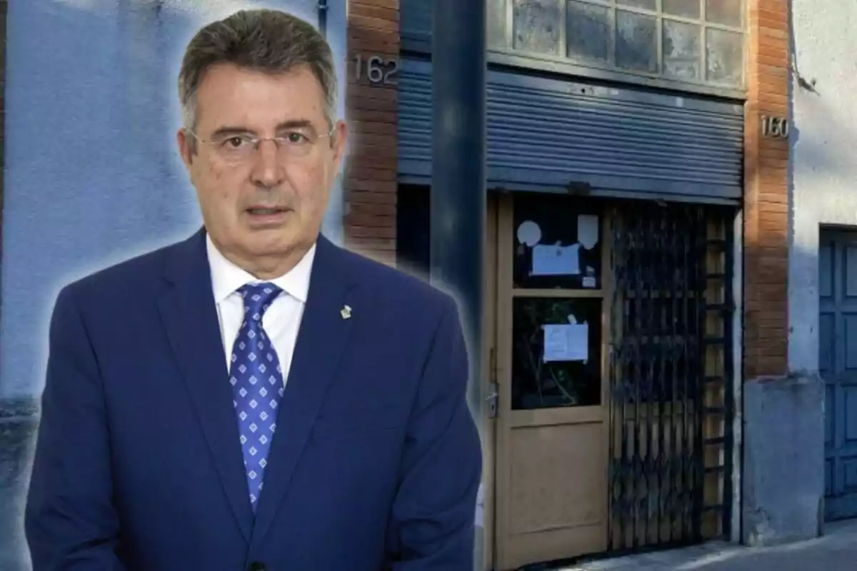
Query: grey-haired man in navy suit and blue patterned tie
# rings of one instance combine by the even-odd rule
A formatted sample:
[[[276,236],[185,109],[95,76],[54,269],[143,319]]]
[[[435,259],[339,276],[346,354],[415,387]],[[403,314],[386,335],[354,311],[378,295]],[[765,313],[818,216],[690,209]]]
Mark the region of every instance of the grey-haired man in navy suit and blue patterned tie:
[[[179,84],[205,226],[58,296],[34,570],[471,569],[455,304],[320,235],[345,148],[327,43],[242,11]]]

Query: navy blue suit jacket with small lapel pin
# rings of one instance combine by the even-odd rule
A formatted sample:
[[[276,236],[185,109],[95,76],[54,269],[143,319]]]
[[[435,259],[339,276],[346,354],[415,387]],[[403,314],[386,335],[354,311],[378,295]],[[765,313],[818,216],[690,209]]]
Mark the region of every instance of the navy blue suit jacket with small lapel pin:
[[[482,453],[451,297],[320,238],[255,514],[223,351],[204,231],[62,289],[34,571],[473,568]]]

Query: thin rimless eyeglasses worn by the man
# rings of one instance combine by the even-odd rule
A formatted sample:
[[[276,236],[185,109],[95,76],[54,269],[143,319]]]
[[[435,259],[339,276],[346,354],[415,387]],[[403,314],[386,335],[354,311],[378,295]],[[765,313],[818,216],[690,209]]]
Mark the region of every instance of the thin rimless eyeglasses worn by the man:
[[[280,158],[306,158],[315,150],[319,140],[333,136],[333,128],[327,133],[315,134],[312,129],[297,128],[278,137],[260,138],[251,134],[222,134],[213,139],[202,139],[189,128],[184,129],[196,140],[213,147],[213,151],[226,163],[247,162],[259,150],[262,141],[271,140],[277,146]]]

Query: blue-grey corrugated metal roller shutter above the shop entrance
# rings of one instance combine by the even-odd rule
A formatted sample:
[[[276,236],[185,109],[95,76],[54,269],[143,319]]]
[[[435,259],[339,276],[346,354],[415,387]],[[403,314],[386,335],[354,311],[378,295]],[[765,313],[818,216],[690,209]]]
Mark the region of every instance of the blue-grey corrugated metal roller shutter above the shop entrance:
[[[741,104],[489,70],[488,184],[740,199]],[[399,78],[399,175],[431,176],[431,63]]]

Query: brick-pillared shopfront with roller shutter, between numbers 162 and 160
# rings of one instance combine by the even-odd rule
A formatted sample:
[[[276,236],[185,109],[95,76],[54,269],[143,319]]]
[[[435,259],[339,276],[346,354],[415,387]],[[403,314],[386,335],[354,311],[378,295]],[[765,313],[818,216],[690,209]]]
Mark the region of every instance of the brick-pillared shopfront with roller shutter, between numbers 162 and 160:
[[[428,277],[433,3],[349,10],[345,242]],[[790,15],[488,0],[482,568],[823,528]]]

